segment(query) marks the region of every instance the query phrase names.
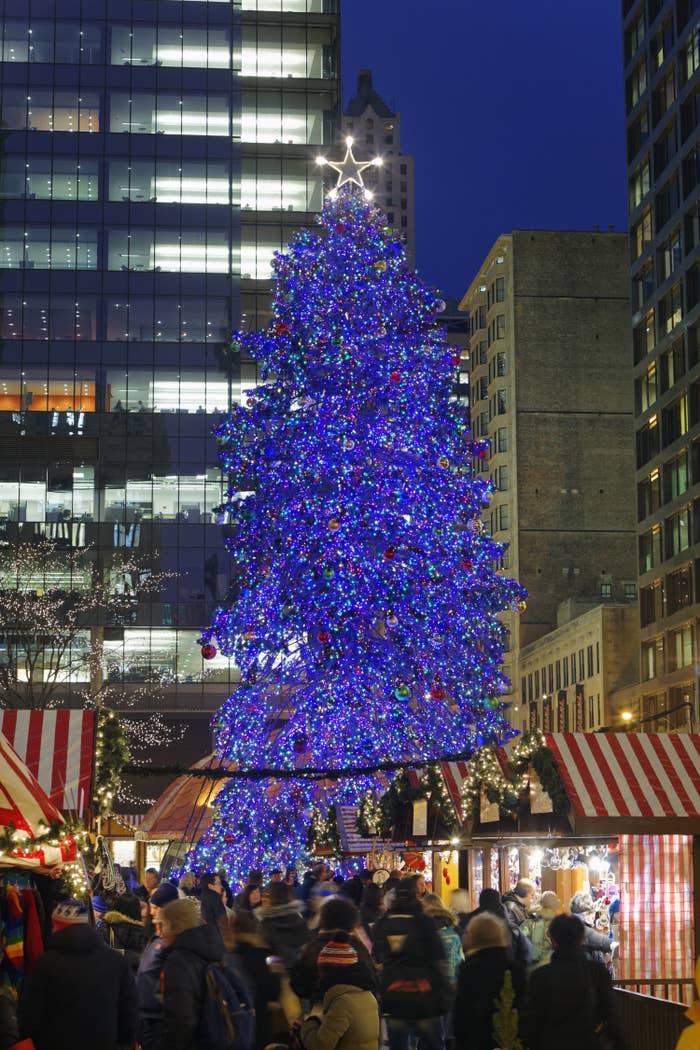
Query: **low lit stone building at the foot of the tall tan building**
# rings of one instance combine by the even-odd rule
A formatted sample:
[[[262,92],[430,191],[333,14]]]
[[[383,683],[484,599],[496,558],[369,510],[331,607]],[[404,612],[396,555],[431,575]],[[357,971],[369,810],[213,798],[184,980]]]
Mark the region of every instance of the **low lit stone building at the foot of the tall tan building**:
[[[619,724],[612,694],[638,681],[636,603],[559,606],[557,627],[519,652],[519,695],[528,726],[589,733]]]

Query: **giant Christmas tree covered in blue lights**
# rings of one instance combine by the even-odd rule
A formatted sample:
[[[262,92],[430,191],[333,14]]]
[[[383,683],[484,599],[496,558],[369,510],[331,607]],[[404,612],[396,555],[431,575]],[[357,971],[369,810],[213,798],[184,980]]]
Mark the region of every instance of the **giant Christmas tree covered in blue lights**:
[[[269,327],[232,342],[262,382],[218,430],[239,590],[203,640],[240,668],[215,740],[243,770],[423,764],[509,733],[496,614],[523,591],[481,523],[460,350],[349,149],[337,167],[320,228],[275,259]],[[198,863],[298,857],[311,804],[309,781],[230,781]]]

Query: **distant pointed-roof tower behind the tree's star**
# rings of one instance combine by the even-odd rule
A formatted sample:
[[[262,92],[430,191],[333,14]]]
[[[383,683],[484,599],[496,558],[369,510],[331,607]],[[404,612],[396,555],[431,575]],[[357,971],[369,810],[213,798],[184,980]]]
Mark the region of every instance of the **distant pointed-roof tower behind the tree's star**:
[[[413,215],[413,158],[401,152],[401,113],[388,106],[372,82],[372,71],[361,69],[357,91],[342,116],[342,133],[354,141],[358,160],[381,156],[381,168],[369,168],[364,183],[388,223],[406,243],[406,254],[416,266]]]

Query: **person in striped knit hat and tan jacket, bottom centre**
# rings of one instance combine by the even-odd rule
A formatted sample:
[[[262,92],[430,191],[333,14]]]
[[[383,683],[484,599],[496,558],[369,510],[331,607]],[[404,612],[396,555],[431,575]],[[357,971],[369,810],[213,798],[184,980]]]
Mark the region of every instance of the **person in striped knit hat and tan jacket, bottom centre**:
[[[347,938],[328,941],[318,956],[323,1003],[301,1025],[305,1050],[377,1050],[379,1007],[372,975]]]

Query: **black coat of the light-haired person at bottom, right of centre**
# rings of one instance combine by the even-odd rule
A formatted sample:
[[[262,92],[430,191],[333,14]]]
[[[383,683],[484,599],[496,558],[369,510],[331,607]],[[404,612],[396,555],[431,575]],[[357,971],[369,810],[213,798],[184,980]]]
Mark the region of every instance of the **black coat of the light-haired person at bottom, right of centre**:
[[[506,948],[482,948],[462,963],[454,1000],[454,1042],[458,1050],[492,1050],[494,1001],[501,994],[506,971],[510,970],[515,1008],[525,992],[525,973],[510,959]]]

